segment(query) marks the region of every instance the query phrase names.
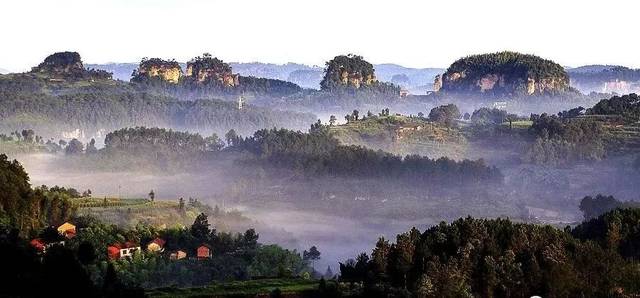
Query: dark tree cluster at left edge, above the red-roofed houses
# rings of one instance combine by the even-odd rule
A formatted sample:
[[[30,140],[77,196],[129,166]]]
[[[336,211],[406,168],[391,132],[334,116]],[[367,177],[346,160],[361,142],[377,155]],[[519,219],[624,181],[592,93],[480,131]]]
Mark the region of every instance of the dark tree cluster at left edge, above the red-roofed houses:
[[[32,188],[22,165],[0,154],[0,224],[25,235],[71,218],[75,195],[64,188]]]

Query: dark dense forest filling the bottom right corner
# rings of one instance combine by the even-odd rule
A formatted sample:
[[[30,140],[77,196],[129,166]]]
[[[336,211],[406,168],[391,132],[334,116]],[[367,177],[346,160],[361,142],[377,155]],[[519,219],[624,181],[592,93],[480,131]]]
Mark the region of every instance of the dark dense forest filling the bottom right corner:
[[[459,219],[341,264],[362,297],[608,297],[640,292],[640,210],[565,231],[503,219]]]

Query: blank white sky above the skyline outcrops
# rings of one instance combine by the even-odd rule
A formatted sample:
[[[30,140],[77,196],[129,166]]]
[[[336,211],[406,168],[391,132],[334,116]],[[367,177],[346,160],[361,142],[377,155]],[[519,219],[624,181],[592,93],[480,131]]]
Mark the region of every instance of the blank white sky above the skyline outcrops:
[[[85,63],[187,61],[447,67],[512,50],[564,66],[640,68],[640,1],[1,0],[0,68],[25,71],[56,51]]]

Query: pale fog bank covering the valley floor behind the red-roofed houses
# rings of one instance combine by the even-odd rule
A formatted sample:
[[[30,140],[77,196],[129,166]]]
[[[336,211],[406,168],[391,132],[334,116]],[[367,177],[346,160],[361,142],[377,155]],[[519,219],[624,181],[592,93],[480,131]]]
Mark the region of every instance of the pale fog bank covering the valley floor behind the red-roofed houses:
[[[490,156],[485,156],[487,157]],[[370,205],[367,201],[356,202],[360,203],[359,205],[354,205],[353,202],[348,205],[349,208],[358,209],[358,212],[332,212],[326,208],[318,208],[318,204],[309,201],[297,202],[291,198],[280,201],[277,194],[264,197],[247,194],[248,197],[241,200],[237,199],[236,194],[233,196],[235,199],[228,199],[229,193],[234,191],[240,191],[242,196],[242,190],[234,188],[243,184],[236,183],[236,178],[227,175],[224,168],[189,174],[135,170],[98,172],[71,170],[60,166],[64,155],[32,154],[16,158],[23,163],[34,186],[60,185],[79,190],[91,189],[93,196],[98,198],[144,198],[150,190],[154,190],[157,199],[160,200],[193,197],[211,206],[238,210],[251,222],[231,225],[232,230],[243,231],[253,227],[260,233],[262,242],[278,243],[299,251],[316,245],[322,252],[322,259],[316,263],[316,269],[322,272],[326,270],[327,265],[331,265],[335,272],[337,262],[345,261],[360,252],[370,252],[372,244],[380,236],[393,240],[396,234],[414,226],[424,230],[440,221],[467,215],[511,217],[515,220],[533,220],[563,226],[581,220],[577,206],[579,200],[586,195],[606,193],[630,200],[637,199],[634,196],[638,193],[635,176],[627,175],[619,169],[625,163],[624,160],[608,161],[603,163],[603,166],[576,166],[553,170],[540,166],[501,165],[505,175],[505,186],[478,194],[477,200],[480,201],[476,204],[482,207],[470,207],[474,202],[448,197],[432,198],[434,202],[424,201],[424,198],[402,201],[401,198],[390,197],[390,201],[395,200],[393,204],[400,206],[398,210],[411,209],[412,204],[420,205],[421,208],[428,206],[424,207],[428,212],[422,213],[421,216],[403,219],[393,216],[393,212],[381,213],[380,210],[376,210],[386,208],[380,206],[390,206],[391,202],[386,202],[387,199],[382,200],[387,205],[379,202],[377,205]],[[331,182],[324,183],[331,185]],[[319,183],[317,187],[328,188],[327,185]],[[293,196],[295,192],[300,192],[300,197],[308,197],[309,194],[303,194],[303,191],[304,186],[294,188]],[[483,198],[490,198],[487,202],[493,205],[505,206],[491,206],[482,201]],[[353,200],[364,199],[355,197]],[[420,209],[416,210],[421,212]]]

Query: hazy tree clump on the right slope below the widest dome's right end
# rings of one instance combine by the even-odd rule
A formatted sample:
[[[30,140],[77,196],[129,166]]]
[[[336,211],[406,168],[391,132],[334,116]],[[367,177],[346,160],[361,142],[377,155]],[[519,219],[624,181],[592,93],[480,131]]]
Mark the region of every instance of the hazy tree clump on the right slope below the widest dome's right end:
[[[525,155],[529,162],[562,165],[606,156],[607,132],[600,122],[547,114],[533,114],[531,121],[535,141]]]

